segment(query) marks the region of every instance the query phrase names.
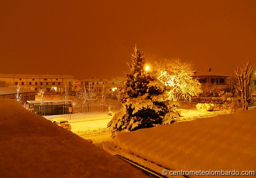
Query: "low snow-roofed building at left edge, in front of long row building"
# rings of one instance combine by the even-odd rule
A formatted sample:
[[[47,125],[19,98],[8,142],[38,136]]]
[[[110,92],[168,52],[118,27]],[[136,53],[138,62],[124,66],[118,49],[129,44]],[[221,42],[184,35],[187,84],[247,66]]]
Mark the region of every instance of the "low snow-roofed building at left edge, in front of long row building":
[[[36,91],[20,88],[22,103],[26,103],[28,100],[35,101]],[[17,87],[0,87],[0,98],[2,99],[15,99],[17,94]]]

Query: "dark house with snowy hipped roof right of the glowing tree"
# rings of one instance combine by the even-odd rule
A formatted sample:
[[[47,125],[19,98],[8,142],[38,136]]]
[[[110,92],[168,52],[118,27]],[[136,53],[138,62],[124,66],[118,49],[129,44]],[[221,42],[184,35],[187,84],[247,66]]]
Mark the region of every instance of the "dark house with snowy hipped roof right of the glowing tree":
[[[213,71],[206,71],[201,73],[195,73],[192,77],[194,79],[198,79],[198,81],[202,84],[212,83],[216,84],[217,88],[224,89],[228,87],[227,77],[230,77],[230,75]]]

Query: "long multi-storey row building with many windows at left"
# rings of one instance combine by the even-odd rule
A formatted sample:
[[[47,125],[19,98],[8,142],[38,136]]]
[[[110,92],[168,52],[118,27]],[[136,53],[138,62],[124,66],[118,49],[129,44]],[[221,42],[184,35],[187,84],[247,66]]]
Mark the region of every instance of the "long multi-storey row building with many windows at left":
[[[72,90],[74,79],[72,75],[0,74],[0,82],[5,85],[20,85],[35,91],[46,88],[46,92],[62,92],[65,86]]]

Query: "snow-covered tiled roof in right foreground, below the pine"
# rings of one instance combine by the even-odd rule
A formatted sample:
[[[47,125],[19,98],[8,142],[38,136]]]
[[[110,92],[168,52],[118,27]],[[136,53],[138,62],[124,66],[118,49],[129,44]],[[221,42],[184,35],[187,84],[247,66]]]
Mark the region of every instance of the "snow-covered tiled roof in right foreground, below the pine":
[[[256,171],[255,116],[252,109],[120,133],[114,142],[105,142],[104,149],[159,173],[163,169]]]

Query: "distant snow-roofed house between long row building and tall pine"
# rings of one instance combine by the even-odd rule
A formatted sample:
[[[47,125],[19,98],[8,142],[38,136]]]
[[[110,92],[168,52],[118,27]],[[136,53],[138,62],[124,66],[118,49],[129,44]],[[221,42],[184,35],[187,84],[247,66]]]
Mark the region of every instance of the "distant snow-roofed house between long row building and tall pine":
[[[79,91],[81,90],[82,86],[88,87],[89,85],[100,85],[100,84],[105,84],[109,83],[107,79],[98,79],[96,77],[91,77],[89,79],[76,79],[73,82],[73,91]]]

